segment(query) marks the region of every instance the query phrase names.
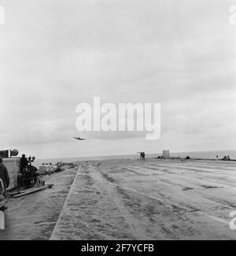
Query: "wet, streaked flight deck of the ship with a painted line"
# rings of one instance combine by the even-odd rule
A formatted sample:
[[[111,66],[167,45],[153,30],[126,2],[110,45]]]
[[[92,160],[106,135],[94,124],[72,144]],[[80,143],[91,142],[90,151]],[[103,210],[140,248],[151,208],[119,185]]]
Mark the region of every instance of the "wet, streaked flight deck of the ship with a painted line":
[[[90,161],[49,182],[9,202],[0,239],[236,239],[233,161]]]

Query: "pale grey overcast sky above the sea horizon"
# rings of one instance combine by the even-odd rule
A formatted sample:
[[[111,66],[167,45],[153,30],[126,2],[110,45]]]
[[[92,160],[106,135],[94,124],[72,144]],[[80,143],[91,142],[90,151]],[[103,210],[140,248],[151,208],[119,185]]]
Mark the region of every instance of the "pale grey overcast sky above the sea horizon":
[[[0,0],[0,149],[37,158],[236,149],[227,0]],[[158,102],[160,139],[76,132],[76,105]]]

